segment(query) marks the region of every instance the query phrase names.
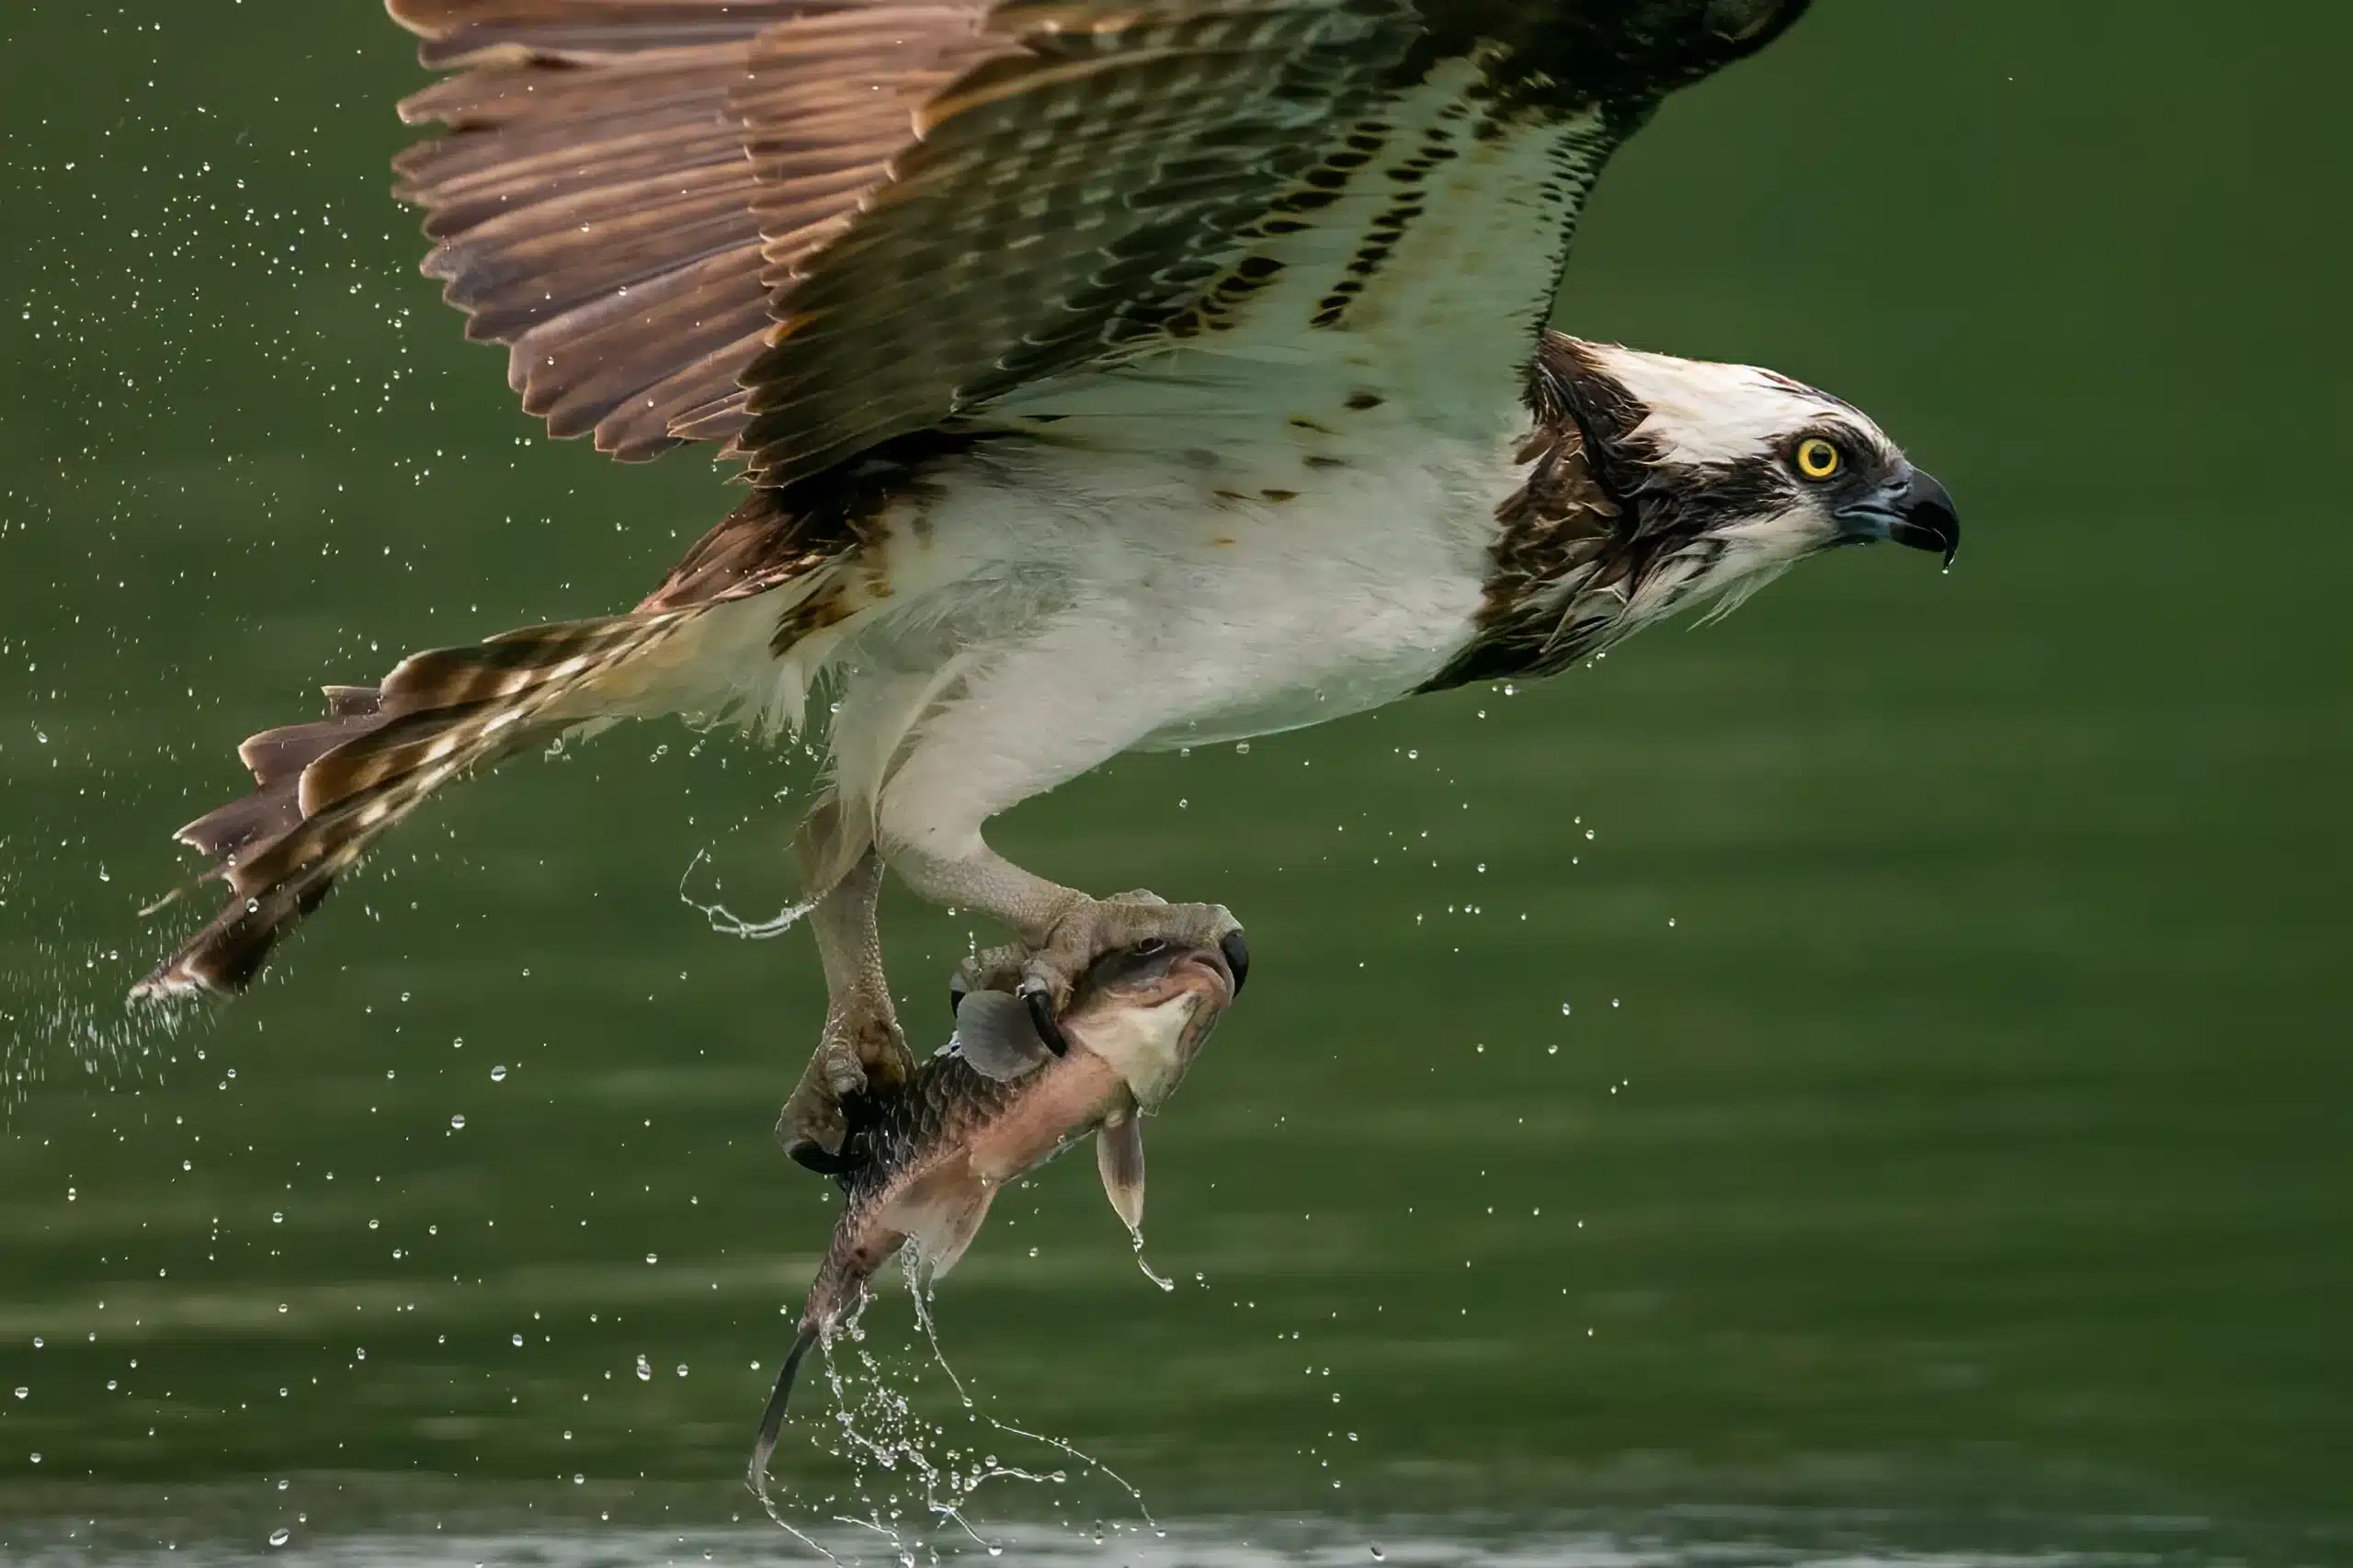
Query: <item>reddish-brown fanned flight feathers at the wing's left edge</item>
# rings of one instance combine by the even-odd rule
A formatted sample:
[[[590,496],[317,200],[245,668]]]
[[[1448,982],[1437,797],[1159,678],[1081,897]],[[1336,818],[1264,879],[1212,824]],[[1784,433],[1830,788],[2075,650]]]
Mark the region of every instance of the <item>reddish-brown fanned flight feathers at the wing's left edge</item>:
[[[621,459],[741,431],[772,294],[840,233],[984,5],[391,0],[447,137],[398,160],[424,271],[553,436]]]

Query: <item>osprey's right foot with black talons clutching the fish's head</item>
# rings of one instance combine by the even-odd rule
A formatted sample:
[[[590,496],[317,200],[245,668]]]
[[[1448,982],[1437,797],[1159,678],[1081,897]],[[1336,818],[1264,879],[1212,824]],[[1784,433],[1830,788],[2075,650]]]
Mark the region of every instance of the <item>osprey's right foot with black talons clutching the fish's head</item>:
[[[1224,904],[1169,904],[1151,892],[1092,899],[1075,888],[1031,876],[988,845],[958,857],[918,848],[885,850],[889,869],[934,904],[976,909],[1014,930],[1014,946],[974,954],[958,965],[951,1003],[965,991],[1016,991],[1031,1005],[1038,1034],[1066,1050],[1054,1022],[1071,1005],[1071,989],[1104,954],[1148,942],[1217,944],[1233,965],[1235,982],[1249,970],[1242,925]]]

